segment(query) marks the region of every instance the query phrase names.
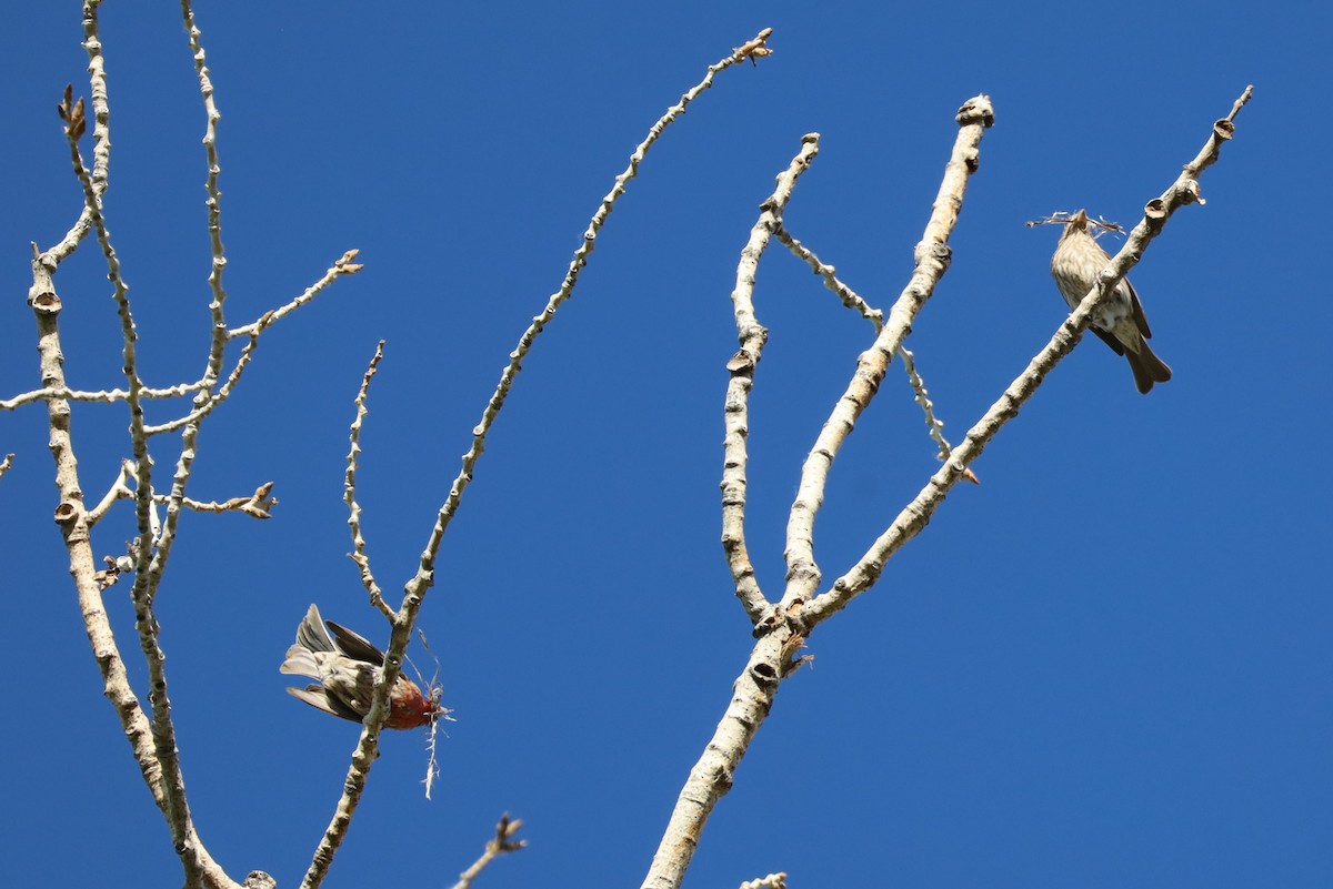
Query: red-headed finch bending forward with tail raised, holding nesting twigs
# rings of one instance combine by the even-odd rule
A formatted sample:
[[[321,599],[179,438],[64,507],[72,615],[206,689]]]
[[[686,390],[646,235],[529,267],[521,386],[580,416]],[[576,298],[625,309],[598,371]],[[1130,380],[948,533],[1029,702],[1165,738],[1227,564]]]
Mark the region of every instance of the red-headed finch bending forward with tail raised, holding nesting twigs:
[[[360,723],[371,709],[371,695],[383,667],[384,652],[347,627],[323,620],[320,610],[311,606],[279,672],[317,679],[320,685],[287,691],[325,713]],[[423,695],[416,683],[399,673],[389,693],[389,719],[384,727],[419,728],[448,712],[440,707],[437,688],[431,689],[429,696]]]

